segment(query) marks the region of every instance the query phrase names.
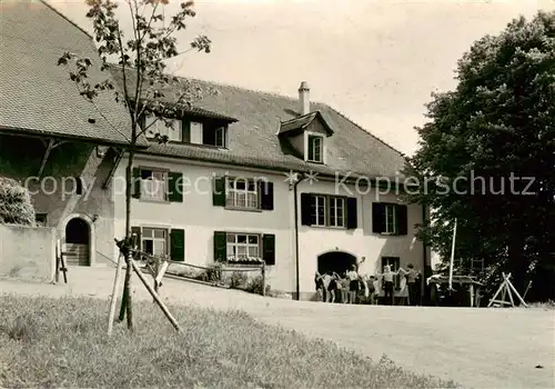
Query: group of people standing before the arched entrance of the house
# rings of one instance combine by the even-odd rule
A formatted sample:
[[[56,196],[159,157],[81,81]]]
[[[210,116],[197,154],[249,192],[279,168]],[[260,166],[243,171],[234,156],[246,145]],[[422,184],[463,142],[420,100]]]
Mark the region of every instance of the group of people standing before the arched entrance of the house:
[[[415,270],[412,263],[407,265],[407,270],[398,268],[393,271],[391,266],[384,266],[383,272],[375,276],[359,275],[357,267],[353,265],[343,275],[334,271],[314,276],[316,291],[324,302],[342,303],[370,303],[381,302],[395,305],[416,306],[420,303],[420,271]],[[395,276],[402,276],[398,285],[398,293],[395,297]]]

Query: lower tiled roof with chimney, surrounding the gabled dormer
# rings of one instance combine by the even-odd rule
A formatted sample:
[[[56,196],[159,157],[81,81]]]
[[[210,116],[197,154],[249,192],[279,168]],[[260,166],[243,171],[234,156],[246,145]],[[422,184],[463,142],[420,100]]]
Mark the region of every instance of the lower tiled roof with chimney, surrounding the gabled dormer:
[[[123,86],[119,67],[112,67],[112,74],[120,87]],[[311,110],[320,111],[333,134],[326,140],[326,164],[306,162],[299,158],[285,139],[278,136],[282,122],[300,117],[297,100],[208,81],[192,81],[205,90],[216,91],[195,107],[238,119],[229,127],[229,149],[153,142],[142,152],[272,170],[313,170],[332,176],[352,172],[353,176],[395,177],[405,168],[406,159],[401,152],[331,107],[317,102],[311,103]]]

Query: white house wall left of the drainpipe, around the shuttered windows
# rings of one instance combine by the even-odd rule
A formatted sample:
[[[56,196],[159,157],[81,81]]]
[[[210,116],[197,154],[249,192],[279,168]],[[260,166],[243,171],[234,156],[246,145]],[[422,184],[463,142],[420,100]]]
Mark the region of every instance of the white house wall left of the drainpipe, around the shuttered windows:
[[[213,262],[214,231],[271,233],[275,236],[275,265],[268,266],[268,281],[272,288],[291,291],[294,286],[294,260],[291,236],[291,209],[287,199],[289,184],[282,173],[269,174],[262,170],[239,170],[194,166],[180,160],[163,161],[160,158],[137,157],[135,167],[153,167],[180,171],[184,177],[183,202],[155,202],[132,199],[132,226],[184,229],[185,262],[206,266]],[[115,173],[123,182],[125,167],[122,163]],[[244,178],[265,177],[273,182],[274,209],[246,211],[213,206],[212,178],[230,174]],[[118,188],[120,187],[120,188]],[[125,230],[125,197],[123,184],[114,183],[115,231]]]

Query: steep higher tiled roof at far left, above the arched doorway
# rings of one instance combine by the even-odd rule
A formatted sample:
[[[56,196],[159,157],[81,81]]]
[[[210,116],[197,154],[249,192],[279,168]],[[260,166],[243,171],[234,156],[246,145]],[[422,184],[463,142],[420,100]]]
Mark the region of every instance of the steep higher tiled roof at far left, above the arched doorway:
[[[37,0],[1,0],[0,131],[127,143],[130,120],[123,106],[110,92],[95,100],[98,109],[79,96],[68,69],[58,66],[64,51],[94,62],[92,81],[110,77],[100,71],[91,37],[50,6]]]

